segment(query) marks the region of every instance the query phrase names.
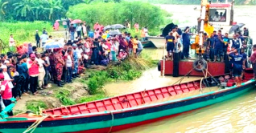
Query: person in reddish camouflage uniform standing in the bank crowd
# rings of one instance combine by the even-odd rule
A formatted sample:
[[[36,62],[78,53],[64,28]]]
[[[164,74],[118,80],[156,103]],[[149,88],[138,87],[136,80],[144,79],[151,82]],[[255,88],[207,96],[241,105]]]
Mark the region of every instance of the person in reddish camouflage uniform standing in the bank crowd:
[[[61,52],[62,52],[61,48],[56,49],[56,54],[55,54],[55,57],[54,57],[55,65],[56,65],[55,69],[56,69],[56,79],[57,79],[58,87],[63,87],[63,85],[61,83],[61,76],[62,76],[63,67],[65,65]]]

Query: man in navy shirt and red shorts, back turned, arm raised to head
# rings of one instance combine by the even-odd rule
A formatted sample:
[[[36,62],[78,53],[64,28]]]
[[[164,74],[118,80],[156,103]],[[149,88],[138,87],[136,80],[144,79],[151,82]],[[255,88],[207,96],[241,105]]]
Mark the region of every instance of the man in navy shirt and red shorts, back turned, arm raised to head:
[[[236,79],[237,86],[240,86],[242,83],[242,69],[245,68],[245,60],[242,54],[239,54],[234,47],[227,54],[233,60],[233,76]]]

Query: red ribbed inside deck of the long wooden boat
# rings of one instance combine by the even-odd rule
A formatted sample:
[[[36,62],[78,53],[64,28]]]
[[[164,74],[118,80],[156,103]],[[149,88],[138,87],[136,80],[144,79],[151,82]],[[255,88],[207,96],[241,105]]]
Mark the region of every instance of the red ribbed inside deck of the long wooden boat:
[[[246,75],[246,80],[252,79],[253,74]],[[229,82],[234,83],[232,79]],[[203,88],[204,84],[202,85]],[[128,95],[121,95],[109,99],[102,99],[89,103],[81,103],[74,106],[60,107],[56,109],[45,110],[43,113],[48,115],[81,115],[97,113],[102,111],[122,110],[130,107],[138,107],[145,104],[163,102],[170,99],[180,99],[178,95],[184,95],[188,92],[199,91],[200,80],[188,83],[180,83],[168,87],[159,87],[154,90],[145,90]],[[212,90],[213,91],[213,90]],[[195,95],[198,95],[195,94]]]

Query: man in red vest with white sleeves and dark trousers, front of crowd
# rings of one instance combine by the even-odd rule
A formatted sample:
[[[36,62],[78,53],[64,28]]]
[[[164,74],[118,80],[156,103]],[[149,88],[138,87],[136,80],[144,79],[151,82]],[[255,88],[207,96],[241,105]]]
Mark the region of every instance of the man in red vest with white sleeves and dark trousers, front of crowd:
[[[36,95],[38,86],[38,76],[39,76],[39,62],[35,59],[35,54],[29,54],[30,59],[27,60],[28,75],[30,81],[30,90],[33,95]]]

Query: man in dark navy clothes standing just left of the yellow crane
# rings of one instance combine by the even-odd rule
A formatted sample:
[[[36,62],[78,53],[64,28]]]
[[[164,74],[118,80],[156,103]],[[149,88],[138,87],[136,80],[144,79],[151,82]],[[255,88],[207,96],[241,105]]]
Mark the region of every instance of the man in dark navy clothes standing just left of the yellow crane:
[[[184,33],[182,34],[184,58],[191,58],[189,56],[189,46],[190,46],[189,35],[192,35],[192,34],[189,33],[189,27],[187,26],[186,29],[184,30]]]

